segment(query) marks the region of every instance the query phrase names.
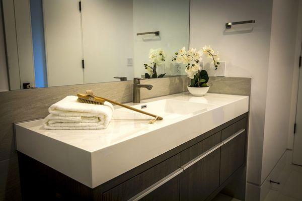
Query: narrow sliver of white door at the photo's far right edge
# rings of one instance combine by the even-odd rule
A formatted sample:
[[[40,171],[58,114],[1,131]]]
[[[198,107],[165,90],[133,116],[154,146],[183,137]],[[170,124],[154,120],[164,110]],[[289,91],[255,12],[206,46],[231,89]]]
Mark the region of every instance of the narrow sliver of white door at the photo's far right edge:
[[[302,70],[299,75],[299,89],[296,111],[296,129],[294,134],[292,163],[302,165]]]

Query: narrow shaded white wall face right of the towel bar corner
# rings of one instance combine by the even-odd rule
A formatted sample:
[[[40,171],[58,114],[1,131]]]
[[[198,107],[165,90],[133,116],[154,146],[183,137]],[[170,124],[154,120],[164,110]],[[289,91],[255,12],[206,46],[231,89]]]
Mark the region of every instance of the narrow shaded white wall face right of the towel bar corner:
[[[261,183],[287,147],[297,11],[297,0],[273,1]]]

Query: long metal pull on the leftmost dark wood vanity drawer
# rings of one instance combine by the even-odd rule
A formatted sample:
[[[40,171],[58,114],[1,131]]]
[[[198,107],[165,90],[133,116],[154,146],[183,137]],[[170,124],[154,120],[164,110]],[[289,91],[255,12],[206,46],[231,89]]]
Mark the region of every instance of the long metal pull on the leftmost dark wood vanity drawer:
[[[128,201],[136,201],[141,199],[142,197],[146,196],[147,194],[149,194],[150,192],[154,191],[155,189],[157,189],[158,187],[160,187],[161,185],[165,184],[166,182],[168,182],[169,180],[173,179],[174,177],[176,177],[177,175],[179,175],[181,172],[183,171],[182,168],[178,168],[177,170],[175,170],[174,172],[172,172],[171,174],[167,175],[166,177],[162,178],[161,180],[159,180],[158,182],[154,183],[153,185],[147,187],[146,189],[144,189],[143,191],[141,191],[140,193],[134,195],[133,197],[131,197],[130,199],[128,199]]]

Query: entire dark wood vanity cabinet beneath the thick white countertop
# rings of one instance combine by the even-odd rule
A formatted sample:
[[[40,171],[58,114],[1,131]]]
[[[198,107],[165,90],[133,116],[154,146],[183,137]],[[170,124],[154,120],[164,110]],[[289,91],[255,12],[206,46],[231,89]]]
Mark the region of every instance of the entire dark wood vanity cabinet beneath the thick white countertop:
[[[247,116],[241,115],[93,189],[19,153],[23,199],[208,201],[227,189],[243,200]],[[31,189],[37,192],[33,194]]]

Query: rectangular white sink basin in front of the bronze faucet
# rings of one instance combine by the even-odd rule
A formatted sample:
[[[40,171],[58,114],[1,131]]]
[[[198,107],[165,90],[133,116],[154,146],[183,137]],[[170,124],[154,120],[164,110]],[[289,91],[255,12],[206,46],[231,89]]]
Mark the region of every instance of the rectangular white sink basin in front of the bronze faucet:
[[[165,119],[175,119],[189,114],[199,114],[205,112],[208,109],[212,108],[213,105],[203,103],[192,103],[175,99],[162,99],[156,100],[154,102],[134,105],[132,107],[145,111],[147,113],[152,113]],[[128,110],[126,108],[117,109],[116,112],[118,111],[135,113],[137,114],[137,118],[139,117],[139,119],[150,119],[149,116],[143,114],[140,115],[140,113]]]

